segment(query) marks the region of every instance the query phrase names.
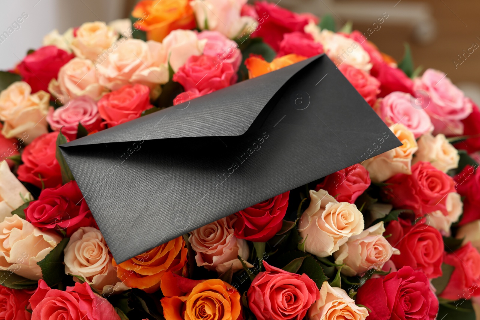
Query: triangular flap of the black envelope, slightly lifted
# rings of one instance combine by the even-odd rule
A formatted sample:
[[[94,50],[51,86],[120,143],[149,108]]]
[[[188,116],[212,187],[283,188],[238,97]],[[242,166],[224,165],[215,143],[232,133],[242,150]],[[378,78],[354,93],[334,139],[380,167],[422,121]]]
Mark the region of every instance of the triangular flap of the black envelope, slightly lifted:
[[[64,144],[62,147],[152,139],[241,135],[249,129],[265,105],[293,75],[312,61],[323,58],[327,59],[326,56],[320,55],[300,61],[175,107],[165,108],[108,130],[96,132]]]

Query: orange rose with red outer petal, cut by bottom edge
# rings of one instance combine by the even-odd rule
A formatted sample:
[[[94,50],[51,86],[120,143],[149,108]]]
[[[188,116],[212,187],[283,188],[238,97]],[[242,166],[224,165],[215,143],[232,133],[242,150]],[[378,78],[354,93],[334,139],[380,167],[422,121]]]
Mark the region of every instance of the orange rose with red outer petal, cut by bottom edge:
[[[230,284],[210,279],[195,285],[186,296],[160,300],[166,320],[237,320],[241,314],[240,293]]]

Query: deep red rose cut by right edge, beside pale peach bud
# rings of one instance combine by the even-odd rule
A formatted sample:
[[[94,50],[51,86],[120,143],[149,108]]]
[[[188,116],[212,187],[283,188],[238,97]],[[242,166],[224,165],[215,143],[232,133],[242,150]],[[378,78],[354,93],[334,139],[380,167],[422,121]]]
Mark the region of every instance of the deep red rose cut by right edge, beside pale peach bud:
[[[467,165],[455,176],[456,192],[463,199],[463,216],[460,225],[480,219],[480,170]]]

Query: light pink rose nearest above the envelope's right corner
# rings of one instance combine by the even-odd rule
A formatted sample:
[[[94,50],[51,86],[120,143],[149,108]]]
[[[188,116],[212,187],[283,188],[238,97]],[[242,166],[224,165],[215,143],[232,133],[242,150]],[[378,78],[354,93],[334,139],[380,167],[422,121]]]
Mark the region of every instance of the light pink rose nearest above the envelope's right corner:
[[[380,100],[375,109],[388,126],[402,123],[418,138],[423,133],[432,132],[433,125],[425,110],[416,105],[414,107],[412,101],[414,98],[410,94],[392,92]]]

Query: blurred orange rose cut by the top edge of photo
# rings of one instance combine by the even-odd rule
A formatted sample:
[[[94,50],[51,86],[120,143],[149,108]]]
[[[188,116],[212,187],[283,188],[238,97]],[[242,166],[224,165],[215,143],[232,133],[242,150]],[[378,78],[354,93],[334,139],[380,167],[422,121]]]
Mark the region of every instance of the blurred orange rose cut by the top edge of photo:
[[[147,40],[161,42],[170,31],[195,28],[189,0],[143,0],[132,11],[136,29],[145,31]]]

